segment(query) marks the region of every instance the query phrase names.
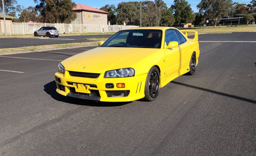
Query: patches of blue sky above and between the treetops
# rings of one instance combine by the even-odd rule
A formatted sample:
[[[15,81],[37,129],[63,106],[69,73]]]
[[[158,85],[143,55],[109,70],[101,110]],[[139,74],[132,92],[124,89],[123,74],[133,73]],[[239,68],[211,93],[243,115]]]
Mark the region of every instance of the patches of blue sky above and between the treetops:
[[[17,0],[19,5],[23,5],[24,7],[28,6],[35,6],[36,3],[34,3],[33,0]],[[105,6],[106,4],[115,4],[117,6],[118,3],[124,1],[136,1],[136,0],[73,0],[77,4],[85,4],[88,6],[92,6],[94,8],[101,8],[102,6]],[[140,0],[137,0],[140,1]],[[154,0],[152,0],[154,1]],[[196,6],[200,2],[200,0],[187,0],[189,4],[191,4],[192,10],[194,12],[198,12]],[[238,3],[246,3],[249,4],[251,0],[236,0],[233,2],[238,2]],[[173,0],[164,0],[164,2],[167,4],[168,7],[170,7],[173,4]]]

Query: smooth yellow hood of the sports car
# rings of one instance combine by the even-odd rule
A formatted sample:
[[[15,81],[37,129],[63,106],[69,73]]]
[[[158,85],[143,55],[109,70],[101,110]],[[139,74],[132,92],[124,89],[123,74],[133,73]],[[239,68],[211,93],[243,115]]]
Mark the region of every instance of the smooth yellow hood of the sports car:
[[[132,68],[139,60],[158,50],[156,48],[98,47],[69,57],[61,64],[67,71],[105,73],[113,69]]]

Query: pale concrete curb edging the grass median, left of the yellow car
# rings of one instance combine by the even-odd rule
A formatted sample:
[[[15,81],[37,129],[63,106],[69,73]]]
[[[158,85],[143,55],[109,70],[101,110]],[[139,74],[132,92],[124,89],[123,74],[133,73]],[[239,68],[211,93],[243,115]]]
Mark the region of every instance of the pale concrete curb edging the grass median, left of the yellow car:
[[[52,48],[52,49],[38,49],[38,50],[26,50],[26,51],[12,51],[12,52],[0,52],[0,55],[11,55],[11,54],[21,54],[28,52],[38,52],[38,51],[47,51],[47,50],[60,50],[60,49],[70,49],[70,48],[81,48],[81,47],[90,47],[96,46],[98,44],[90,44],[90,45],[79,45],[79,46],[70,46],[70,47],[60,47],[60,48]]]

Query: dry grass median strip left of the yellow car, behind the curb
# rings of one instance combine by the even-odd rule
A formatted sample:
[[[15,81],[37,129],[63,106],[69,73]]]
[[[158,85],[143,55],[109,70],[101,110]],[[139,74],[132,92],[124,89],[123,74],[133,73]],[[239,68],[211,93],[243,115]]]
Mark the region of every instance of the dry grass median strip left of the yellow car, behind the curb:
[[[2,48],[1,52],[14,52],[14,51],[29,51],[29,50],[51,50],[53,48],[61,47],[72,47],[72,46],[83,46],[83,45],[93,45],[98,44],[98,42],[80,42],[80,43],[66,43],[66,44],[52,44],[49,45],[39,45],[39,46],[29,46],[29,47],[19,47],[19,48]]]

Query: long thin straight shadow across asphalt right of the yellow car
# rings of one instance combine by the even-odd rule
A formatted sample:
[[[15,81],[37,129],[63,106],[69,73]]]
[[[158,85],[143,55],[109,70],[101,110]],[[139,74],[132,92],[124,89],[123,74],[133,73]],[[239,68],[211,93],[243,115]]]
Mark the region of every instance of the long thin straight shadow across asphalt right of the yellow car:
[[[238,99],[238,100],[242,100],[242,101],[246,101],[246,102],[250,102],[250,103],[256,104],[255,100],[247,99],[247,98],[244,98],[244,97],[239,97],[239,96],[232,95],[232,94],[227,94],[227,93],[223,93],[223,92],[217,92],[215,90],[210,90],[210,89],[203,88],[203,87],[197,87],[197,86],[193,86],[193,85],[188,85],[188,84],[181,83],[181,82],[176,82],[176,81],[171,81],[170,83],[174,83],[174,84],[177,84],[177,85],[183,85],[183,86],[186,86],[186,87],[191,87],[191,88],[203,90],[203,91],[206,91],[206,92],[211,92],[211,93],[214,93],[214,94],[219,94],[219,95],[222,95],[222,96],[231,97],[231,98],[234,98],[234,99]]]

